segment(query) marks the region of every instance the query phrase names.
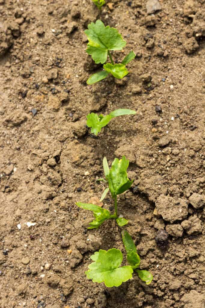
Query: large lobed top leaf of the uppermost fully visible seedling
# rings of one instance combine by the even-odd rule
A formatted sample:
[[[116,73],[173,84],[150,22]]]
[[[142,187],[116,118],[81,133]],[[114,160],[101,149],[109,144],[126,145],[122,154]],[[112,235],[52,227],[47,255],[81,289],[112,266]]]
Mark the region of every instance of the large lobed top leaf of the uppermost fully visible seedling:
[[[126,45],[121,34],[115,28],[104,26],[101,20],[91,22],[85,30],[89,43],[86,52],[92,56],[95,63],[105,63],[108,50],[122,50]]]

